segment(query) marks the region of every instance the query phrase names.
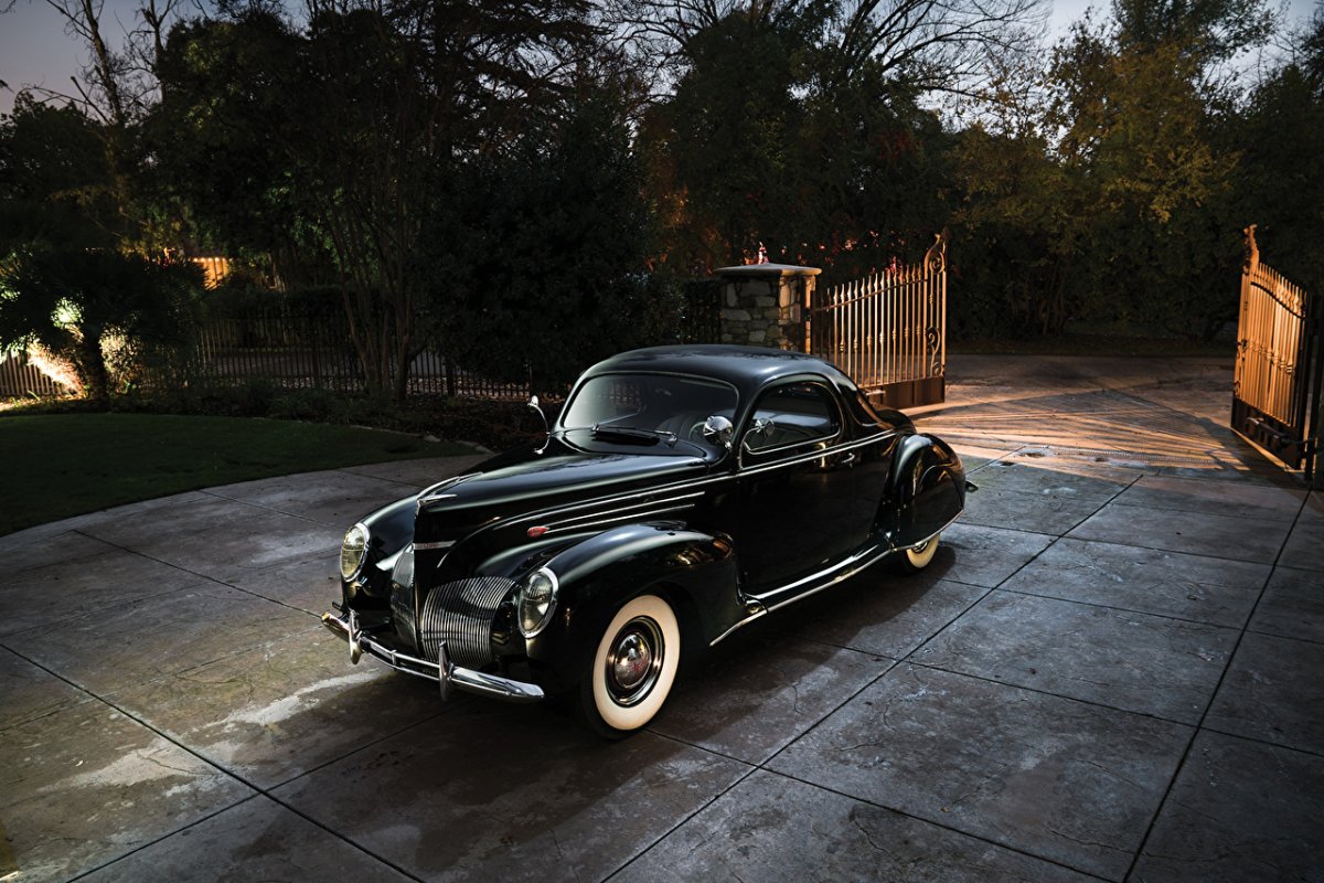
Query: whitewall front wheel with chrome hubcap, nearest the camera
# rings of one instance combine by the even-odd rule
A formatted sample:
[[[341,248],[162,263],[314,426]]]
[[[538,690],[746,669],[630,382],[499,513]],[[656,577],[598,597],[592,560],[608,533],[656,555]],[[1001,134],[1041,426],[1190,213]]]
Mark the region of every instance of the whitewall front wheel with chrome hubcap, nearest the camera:
[[[681,626],[655,594],[625,602],[602,631],[580,687],[588,724],[609,739],[626,736],[662,708],[681,662]]]

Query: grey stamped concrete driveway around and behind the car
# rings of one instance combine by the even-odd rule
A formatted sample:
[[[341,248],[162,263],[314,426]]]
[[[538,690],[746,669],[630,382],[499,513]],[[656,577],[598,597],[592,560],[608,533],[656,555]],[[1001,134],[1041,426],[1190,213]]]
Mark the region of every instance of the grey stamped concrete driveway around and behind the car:
[[[955,359],[980,491],[688,673],[620,744],[364,663],[363,511],[466,467],[0,537],[3,880],[1324,880],[1324,496],[1229,361]]]

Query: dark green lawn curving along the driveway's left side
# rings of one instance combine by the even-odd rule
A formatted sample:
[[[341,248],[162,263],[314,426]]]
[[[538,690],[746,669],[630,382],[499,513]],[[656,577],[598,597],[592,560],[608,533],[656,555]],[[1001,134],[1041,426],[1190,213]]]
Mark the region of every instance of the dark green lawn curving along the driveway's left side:
[[[0,535],[253,478],[473,454],[413,436],[240,417],[0,416]]]

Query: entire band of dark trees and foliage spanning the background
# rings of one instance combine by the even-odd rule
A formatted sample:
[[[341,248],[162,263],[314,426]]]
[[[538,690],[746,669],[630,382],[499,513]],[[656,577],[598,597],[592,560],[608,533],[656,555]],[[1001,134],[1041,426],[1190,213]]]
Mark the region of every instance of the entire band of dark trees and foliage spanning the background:
[[[397,397],[428,348],[559,384],[670,339],[681,281],[760,245],[841,278],[949,226],[969,336],[1217,334],[1251,222],[1324,285],[1324,16],[1246,89],[1266,0],[1113,0],[1051,46],[1039,0],[233,0],[123,52],[61,8],[87,86],[0,122],[0,334],[94,391],[91,342],[185,342],[167,253],[327,299]]]

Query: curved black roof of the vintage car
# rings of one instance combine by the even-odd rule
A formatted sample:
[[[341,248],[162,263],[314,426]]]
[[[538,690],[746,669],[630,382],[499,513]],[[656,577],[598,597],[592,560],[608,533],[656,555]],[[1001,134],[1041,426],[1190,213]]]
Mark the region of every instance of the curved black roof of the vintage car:
[[[724,380],[736,387],[741,396],[772,380],[804,373],[821,375],[847,389],[854,388],[850,379],[835,365],[817,356],[771,347],[732,344],[682,344],[630,349],[597,363],[584,373],[592,376],[632,371]]]

